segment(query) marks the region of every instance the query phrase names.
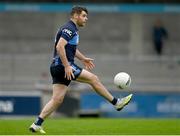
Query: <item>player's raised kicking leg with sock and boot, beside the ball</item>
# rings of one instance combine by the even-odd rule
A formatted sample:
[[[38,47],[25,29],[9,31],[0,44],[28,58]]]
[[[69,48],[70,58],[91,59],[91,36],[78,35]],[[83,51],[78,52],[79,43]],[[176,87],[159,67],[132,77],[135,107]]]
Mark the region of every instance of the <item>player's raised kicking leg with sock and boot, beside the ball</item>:
[[[106,100],[111,102],[118,111],[121,110],[125,105],[127,105],[132,98],[132,94],[130,94],[122,99],[119,99],[119,98],[117,99],[117,98],[113,97],[112,94],[101,83],[99,78],[95,74],[93,74],[85,69],[82,70],[81,74],[79,75],[79,77],[76,80],[79,82],[82,82],[82,83],[90,84],[92,86],[92,88],[98,94],[100,94]]]

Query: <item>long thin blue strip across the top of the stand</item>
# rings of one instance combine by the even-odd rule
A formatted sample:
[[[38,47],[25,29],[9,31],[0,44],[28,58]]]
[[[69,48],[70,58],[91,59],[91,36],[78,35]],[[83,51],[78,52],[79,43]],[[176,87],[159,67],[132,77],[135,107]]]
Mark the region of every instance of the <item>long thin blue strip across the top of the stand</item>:
[[[10,4],[0,3],[0,12],[69,12],[74,4],[42,3],[42,4]],[[78,4],[77,4],[78,5]],[[164,4],[82,4],[90,12],[124,12],[124,13],[180,13],[180,5]]]

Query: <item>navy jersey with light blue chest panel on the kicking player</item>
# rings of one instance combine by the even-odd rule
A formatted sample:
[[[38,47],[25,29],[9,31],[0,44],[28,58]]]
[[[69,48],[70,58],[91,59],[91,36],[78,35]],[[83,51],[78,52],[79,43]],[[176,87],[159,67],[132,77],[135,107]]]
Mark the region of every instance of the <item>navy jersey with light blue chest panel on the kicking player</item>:
[[[76,48],[79,43],[79,34],[78,29],[74,22],[69,21],[64,26],[62,26],[55,38],[55,46],[54,46],[54,56],[53,56],[53,62],[55,65],[62,64],[59,54],[57,53],[56,46],[60,39],[60,37],[63,37],[68,43],[65,46],[66,51],[66,57],[69,62],[74,62],[74,56],[76,53]]]

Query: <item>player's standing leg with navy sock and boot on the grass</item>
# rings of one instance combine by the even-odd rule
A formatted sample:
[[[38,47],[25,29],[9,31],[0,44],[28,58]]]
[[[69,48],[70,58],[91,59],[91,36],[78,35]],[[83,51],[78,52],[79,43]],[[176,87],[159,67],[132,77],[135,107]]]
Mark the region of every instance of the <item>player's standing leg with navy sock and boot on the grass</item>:
[[[53,95],[51,100],[45,105],[37,120],[30,126],[31,132],[45,133],[41,127],[44,119],[46,119],[57,107],[63,102],[67,92],[67,86],[63,84],[53,84]]]

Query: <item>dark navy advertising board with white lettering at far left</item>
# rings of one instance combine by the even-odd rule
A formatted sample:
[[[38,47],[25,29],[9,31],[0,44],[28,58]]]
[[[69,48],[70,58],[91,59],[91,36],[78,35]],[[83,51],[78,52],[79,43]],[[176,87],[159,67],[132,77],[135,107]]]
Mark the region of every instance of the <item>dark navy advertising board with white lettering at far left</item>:
[[[40,96],[0,96],[0,115],[38,115]]]

